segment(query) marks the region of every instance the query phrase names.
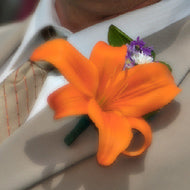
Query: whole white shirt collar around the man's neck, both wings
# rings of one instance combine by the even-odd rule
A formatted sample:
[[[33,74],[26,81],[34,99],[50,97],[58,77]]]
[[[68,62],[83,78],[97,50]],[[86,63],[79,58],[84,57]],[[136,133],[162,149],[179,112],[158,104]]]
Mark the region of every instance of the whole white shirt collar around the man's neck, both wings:
[[[95,24],[80,32],[72,34],[71,31],[60,25],[55,11],[55,0],[41,0],[31,19],[23,43],[28,43],[32,36],[46,26],[54,26],[81,53],[89,56],[91,47],[97,41],[107,41],[107,31],[111,24],[116,25],[132,38],[146,37],[164,27],[189,15],[189,0],[162,0],[154,5],[125,13],[116,18]],[[189,7],[189,8],[188,8]]]

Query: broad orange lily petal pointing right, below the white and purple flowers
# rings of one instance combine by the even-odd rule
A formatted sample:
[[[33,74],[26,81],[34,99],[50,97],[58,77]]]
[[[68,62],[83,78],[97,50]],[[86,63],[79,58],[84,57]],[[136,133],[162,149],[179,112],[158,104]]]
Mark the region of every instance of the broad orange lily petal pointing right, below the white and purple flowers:
[[[128,70],[126,90],[110,103],[107,110],[118,110],[128,117],[141,117],[167,105],[180,91],[165,65],[137,65]]]

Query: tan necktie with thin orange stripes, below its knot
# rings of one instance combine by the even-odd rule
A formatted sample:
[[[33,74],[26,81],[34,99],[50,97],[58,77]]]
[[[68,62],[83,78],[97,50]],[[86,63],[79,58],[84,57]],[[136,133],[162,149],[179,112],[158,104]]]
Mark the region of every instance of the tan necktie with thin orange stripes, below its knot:
[[[27,119],[46,79],[46,70],[28,61],[0,84],[0,143]]]

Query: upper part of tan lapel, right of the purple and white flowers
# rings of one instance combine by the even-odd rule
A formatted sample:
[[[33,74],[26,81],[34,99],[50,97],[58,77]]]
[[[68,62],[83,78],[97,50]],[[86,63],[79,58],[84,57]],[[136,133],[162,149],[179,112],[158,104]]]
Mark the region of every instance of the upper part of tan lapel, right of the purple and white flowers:
[[[190,69],[190,16],[145,38],[157,52],[156,60],[162,60],[173,68],[172,75],[177,84]]]

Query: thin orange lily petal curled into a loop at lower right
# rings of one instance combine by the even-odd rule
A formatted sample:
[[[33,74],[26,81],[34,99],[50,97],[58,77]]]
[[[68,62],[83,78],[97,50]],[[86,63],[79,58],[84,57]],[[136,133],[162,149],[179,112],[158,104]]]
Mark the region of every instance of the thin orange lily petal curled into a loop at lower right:
[[[142,133],[142,135],[144,136],[144,144],[139,150],[131,152],[126,150],[123,152],[123,154],[127,156],[138,156],[142,154],[151,144],[152,141],[151,128],[148,125],[148,123],[142,118],[127,118],[127,119],[133,129],[136,129]]]

